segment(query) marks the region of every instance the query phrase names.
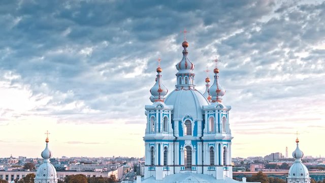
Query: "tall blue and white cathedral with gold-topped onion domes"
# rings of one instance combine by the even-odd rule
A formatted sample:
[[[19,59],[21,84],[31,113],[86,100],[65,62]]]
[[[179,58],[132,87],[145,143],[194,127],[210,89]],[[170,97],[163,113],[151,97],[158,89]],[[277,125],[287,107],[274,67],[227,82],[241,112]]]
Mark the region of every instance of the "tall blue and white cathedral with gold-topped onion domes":
[[[235,182],[231,166],[231,107],[222,103],[225,90],[219,84],[219,69],[214,69],[211,87],[210,78],[206,78],[206,91],[202,94],[195,88],[194,64],[187,57],[188,43],[184,41],[182,47],[183,57],[176,65],[173,92],[166,97],[168,89],[163,84],[160,66],[150,89],[152,104],[145,106],[147,126],[142,181],[227,179],[227,182]]]

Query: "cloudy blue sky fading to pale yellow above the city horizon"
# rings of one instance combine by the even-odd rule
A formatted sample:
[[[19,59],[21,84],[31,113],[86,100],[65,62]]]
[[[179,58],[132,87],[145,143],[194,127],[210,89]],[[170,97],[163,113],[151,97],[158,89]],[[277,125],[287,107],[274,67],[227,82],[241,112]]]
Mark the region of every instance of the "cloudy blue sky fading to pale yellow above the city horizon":
[[[218,57],[233,157],[325,156],[325,2],[0,2],[0,157],[143,157],[157,58],[196,88]],[[213,73],[208,73],[212,78]]]

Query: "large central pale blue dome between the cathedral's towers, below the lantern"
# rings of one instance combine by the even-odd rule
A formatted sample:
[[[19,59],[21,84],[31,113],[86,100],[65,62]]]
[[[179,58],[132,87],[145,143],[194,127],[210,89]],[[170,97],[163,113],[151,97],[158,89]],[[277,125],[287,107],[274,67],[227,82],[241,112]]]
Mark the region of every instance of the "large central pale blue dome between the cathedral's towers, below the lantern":
[[[196,89],[175,89],[165,99],[165,104],[173,105],[173,118],[182,119],[191,115],[194,120],[202,120],[202,106],[210,105],[208,100]]]

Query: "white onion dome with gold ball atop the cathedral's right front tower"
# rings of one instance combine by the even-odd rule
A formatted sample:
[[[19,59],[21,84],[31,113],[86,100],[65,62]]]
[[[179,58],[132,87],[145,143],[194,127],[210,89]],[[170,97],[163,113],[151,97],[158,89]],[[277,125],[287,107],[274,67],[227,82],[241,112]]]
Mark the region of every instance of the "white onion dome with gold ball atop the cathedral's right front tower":
[[[212,97],[212,103],[221,103],[222,96],[225,94],[225,89],[223,89],[223,87],[219,84],[219,69],[215,68],[213,72],[214,81],[212,86],[209,88],[209,94]]]

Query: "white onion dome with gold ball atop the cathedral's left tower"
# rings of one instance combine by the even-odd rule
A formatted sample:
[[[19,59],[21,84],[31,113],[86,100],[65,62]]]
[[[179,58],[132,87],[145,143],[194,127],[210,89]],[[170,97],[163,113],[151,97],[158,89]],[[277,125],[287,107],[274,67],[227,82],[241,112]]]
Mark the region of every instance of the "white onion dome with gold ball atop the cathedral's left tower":
[[[163,82],[161,82],[161,74],[160,73],[163,71],[163,69],[161,69],[160,66],[158,66],[156,71],[157,71],[156,83],[150,89],[150,93],[152,95],[150,97],[150,100],[151,101],[153,100],[153,102],[164,102],[165,96],[168,93],[168,89],[163,84]]]

